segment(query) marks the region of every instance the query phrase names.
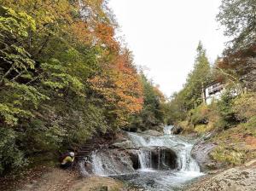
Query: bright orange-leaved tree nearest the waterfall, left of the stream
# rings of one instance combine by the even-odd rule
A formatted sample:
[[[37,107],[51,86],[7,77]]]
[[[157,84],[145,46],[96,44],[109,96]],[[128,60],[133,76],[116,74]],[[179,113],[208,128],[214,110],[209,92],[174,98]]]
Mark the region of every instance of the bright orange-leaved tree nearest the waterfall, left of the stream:
[[[90,78],[91,89],[102,98],[108,121],[119,128],[128,123],[132,114],[139,113],[143,107],[143,90],[132,63],[131,52],[124,49],[117,55],[111,66]]]

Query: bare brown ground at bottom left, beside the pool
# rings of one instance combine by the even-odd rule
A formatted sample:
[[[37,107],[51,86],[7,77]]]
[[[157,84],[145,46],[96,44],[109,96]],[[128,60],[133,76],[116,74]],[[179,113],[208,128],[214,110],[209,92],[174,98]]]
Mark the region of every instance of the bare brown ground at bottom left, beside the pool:
[[[123,182],[110,177],[83,178],[77,171],[64,171],[56,167],[34,169],[22,178],[1,182],[0,189],[5,191],[126,190]]]

